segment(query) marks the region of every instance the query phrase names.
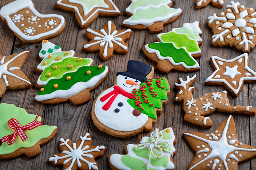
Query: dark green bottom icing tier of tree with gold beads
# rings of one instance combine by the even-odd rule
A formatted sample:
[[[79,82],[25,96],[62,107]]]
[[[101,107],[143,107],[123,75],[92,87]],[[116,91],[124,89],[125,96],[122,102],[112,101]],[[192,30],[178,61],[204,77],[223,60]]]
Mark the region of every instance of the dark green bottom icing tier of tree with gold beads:
[[[91,71],[91,74],[89,75],[87,74],[88,70]],[[68,90],[75,83],[87,82],[91,78],[101,74],[104,70],[105,66],[102,66],[101,69],[99,69],[98,66],[82,66],[75,72],[64,74],[62,78],[49,80],[48,83],[44,86],[44,91],[39,91],[37,95],[50,94],[57,90]],[[67,76],[71,76],[71,79],[67,80]],[[58,88],[54,88],[54,84],[58,84]]]

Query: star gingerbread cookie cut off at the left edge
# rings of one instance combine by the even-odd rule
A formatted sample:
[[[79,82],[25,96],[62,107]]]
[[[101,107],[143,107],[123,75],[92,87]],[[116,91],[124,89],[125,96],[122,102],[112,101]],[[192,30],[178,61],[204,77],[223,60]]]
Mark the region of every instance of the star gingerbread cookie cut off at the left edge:
[[[12,54],[10,56],[0,55],[0,97],[2,97],[7,89],[18,90],[31,87],[29,79],[21,71],[28,56],[28,51]]]

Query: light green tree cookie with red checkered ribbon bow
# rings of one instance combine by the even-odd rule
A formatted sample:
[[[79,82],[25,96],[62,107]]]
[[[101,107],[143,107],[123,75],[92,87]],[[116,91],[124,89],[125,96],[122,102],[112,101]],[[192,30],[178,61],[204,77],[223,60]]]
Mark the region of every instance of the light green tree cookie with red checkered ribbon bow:
[[[0,104],[0,160],[12,159],[25,154],[35,157],[40,146],[56,135],[56,126],[43,125],[43,118],[28,114],[13,104]]]

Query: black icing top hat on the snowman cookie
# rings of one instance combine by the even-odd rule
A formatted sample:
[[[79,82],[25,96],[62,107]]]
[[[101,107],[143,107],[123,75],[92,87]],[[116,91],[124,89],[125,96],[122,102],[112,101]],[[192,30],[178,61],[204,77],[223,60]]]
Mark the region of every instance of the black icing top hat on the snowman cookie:
[[[146,82],[146,76],[152,71],[152,66],[141,61],[129,60],[127,70],[125,72],[118,72],[118,75],[127,76],[141,82]]]

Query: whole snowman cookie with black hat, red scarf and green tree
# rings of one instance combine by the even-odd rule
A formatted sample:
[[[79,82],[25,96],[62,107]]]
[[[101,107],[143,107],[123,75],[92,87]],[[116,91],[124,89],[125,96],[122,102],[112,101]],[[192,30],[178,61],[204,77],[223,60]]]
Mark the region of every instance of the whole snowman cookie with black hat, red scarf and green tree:
[[[152,79],[154,68],[128,61],[127,71],[118,72],[114,86],[98,95],[92,107],[95,126],[109,135],[127,138],[151,131],[170,92],[166,78]]]

